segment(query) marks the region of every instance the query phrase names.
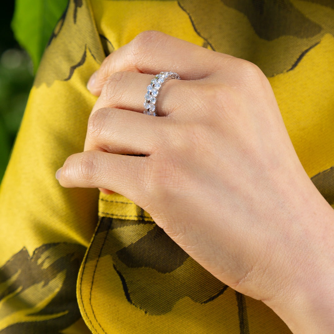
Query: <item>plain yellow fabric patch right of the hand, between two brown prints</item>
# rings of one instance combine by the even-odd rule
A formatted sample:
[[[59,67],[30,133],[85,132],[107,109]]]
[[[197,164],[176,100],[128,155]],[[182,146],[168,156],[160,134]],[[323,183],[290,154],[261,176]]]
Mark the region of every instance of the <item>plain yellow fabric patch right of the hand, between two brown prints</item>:
[[[334,37],[326,34],[293,71],[269,78],[291,141],[310,177],[333,166],[334,80],[329,77],[334,75],[333,54]]]

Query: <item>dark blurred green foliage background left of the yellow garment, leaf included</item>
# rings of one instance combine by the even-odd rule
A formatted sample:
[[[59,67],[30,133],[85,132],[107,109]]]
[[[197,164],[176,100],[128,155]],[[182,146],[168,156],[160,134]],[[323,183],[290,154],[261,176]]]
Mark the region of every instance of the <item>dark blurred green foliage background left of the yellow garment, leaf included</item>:
[[[21,123],[34,72],[66,5],[67,0],[16,0],[7,1],[2,6],[0,182]]]

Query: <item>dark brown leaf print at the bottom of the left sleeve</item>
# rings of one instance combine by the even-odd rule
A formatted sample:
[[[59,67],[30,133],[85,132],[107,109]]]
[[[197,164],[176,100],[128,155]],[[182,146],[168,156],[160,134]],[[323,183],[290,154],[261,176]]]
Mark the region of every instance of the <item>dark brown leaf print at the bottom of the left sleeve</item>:
[[[32,256],[26,248],[13,255],[0,268],[0,333],[58,333],[76,322],[76,279],[85,251],[62,242],[44,244]]]

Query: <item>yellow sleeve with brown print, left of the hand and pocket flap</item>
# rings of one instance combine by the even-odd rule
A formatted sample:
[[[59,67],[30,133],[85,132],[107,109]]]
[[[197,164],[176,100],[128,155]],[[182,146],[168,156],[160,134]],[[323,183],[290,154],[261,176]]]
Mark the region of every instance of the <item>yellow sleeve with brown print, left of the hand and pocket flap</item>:
[[[98,222],[97,189],[65,189],[55,171],[83,150],[105,53],[90,4],[70,1],[46,48],[0,190],[0,333],[90,333],[78,270]]]

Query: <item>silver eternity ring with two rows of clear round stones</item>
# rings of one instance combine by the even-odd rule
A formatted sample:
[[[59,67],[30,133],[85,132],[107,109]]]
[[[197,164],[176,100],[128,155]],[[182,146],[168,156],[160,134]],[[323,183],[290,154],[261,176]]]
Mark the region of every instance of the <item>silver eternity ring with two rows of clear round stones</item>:
[[[151,116],[158,116],[156,110],[156,103],[162,85],[168,79],[180,80],[180,76],[175,72],[160,72],[152,79],[150,85],[147,86],[147,93],[145,94],[144,114]]]

